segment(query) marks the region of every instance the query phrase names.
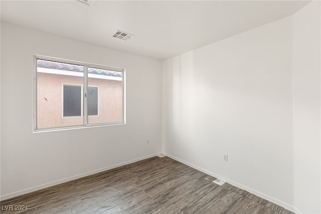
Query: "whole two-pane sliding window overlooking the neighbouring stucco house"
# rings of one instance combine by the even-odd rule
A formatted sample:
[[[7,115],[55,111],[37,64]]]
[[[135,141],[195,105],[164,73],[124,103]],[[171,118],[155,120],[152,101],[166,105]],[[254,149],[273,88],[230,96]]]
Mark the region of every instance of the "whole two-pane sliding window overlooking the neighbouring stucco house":
[[[34,131],[124,124],[124,69],[35,56]]]

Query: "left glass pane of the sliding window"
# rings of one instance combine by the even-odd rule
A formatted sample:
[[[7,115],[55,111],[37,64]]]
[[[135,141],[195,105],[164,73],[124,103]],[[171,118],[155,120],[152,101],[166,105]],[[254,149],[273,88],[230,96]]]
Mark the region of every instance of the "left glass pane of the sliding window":
[[[83,84],[84,66],[37,59],[37,129],[84,125],[83,115],[79,115],[79,96],[70,98],[75,91],[64,91],[64,85]],[[69,98],[64,100],[64,95]],[[69,106],[74,101],[78,104],[70,111],[65,109],[65,104]]]

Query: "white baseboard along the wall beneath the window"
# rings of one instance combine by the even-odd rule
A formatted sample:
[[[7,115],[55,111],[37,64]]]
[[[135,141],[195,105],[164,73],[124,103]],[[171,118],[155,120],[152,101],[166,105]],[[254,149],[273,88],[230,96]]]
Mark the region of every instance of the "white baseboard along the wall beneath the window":
[[[54,185],[57,185],[57,184],[61,184],[61,183],[65,183],[65,182],[68,182],[68,181],[71,181],[71,180],[82,178],[82,177],[85,177],[85,176],[88,176],[88,175],[92,175],[92,174],[103,172],[103,171],[106,171],[106,170],[109,170],[109,169],[117,168],[119,166],[124,166],[124,165],[130,164],[130,163],[134,163],[134,162],[137,162],[137,161],[140,161],[140,160],[144,160],[144,159],[147,159],[147,158],[155,157],[155,156],[161,155],[161,154],[162,153],[156,153],[156,154],[147,155],[147,156],[144,156],[144,157],[136,158],[136,159],[133,159],[133,160],[130,160],[130,161],[125,161],[125,162],[122,162],[122,163],[119,163],[119,164],[115,164],[115,165],[112,165],[112,166],[107,166],[107,167],[96,169],[96,170],[93,170],[93,171],[90,171],[90,172],[85,172],[85,173],[78,174],[78,175],[75,175],[75,176],[71,176],[71,177],[68,177],[68,178],[63,178],[63,179],[60,179],[60,180],[56,180],[56,181],[53,181],[53,182],[50,182],[50,183],[45,183],[45,184],[41,184],[39,186],[34,186],[34,187],[31,187],[31,188],[28,188],[28,189],[16,191],[16,192],[9,193],[9,194],[6,194],[6,195],[1,195],[0,196],[0,200],[6,200],[6,199],[9,199],[9,198],[13,198],[13,197],[19,196],[19,195],[23,195],[23,194],[30,193],[30,192],[33,192],[33,191],[37,191],[37,190],[40,190],[40,189],[44,189],[44,188],[47,188],[47,187],[50,187],[50,186],[54,186]]]

